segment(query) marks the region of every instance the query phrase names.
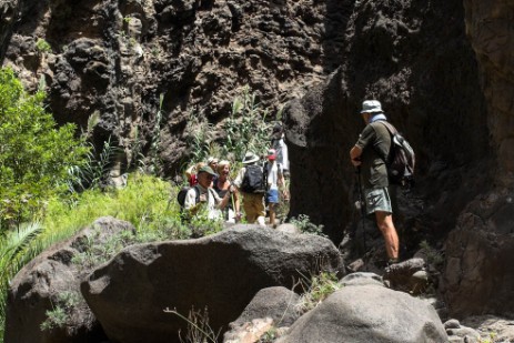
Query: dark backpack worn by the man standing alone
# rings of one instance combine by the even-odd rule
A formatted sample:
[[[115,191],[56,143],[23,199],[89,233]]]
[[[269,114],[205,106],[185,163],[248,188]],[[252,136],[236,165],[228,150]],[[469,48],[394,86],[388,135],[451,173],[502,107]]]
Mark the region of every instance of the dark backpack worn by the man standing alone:
[[[391,134],[391,149],[385,161],[391,184],[412,185],[414,183],[414,165],[416,158],[411,144],[396,129],[385,121],[380,121]]]

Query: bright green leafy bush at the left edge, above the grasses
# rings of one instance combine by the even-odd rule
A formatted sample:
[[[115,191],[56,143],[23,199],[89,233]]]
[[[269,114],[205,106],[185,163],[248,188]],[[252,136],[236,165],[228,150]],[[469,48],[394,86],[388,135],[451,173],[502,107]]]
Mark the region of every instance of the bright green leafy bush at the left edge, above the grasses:
[[[67,190],[68,170],[88,153],[75,127],[57,127],[44,93],[30,95],[11,69],[0,70],[0,224],[30,219],[44,201]]]

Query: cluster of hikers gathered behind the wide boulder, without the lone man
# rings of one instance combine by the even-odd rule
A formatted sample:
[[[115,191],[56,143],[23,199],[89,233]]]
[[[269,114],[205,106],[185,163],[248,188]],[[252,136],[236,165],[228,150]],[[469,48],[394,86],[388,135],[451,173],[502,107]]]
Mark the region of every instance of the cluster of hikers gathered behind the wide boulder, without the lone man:
[[[276,225],[276,210],[281,200],[289,201],[285,178],[289,178],[288,145],[281,124],[273,127],[268,154],[260,157],[249,151],[242,160],[242,168],[231,180],[231,163],[210,157],[185,171],[190,188],[183,200],[187,216],[206,213],[210,220],[240,222],[242,208],[246,223]],[[264,160],[264,161],[263,161]],[[180,199],[179,199],[180,202]]]

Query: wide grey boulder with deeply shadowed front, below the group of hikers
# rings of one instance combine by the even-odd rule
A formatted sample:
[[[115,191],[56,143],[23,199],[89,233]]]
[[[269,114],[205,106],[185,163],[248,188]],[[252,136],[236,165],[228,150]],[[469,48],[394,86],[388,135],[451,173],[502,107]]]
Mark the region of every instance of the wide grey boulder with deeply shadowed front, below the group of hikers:
[[[341,265],[337,249],[316,235],[235,225],[198,240],[133,245],[94,271],[82,294],[114,342],[179,342],[193,309],[226,330],[260,290],[293,289],[302,275]]]

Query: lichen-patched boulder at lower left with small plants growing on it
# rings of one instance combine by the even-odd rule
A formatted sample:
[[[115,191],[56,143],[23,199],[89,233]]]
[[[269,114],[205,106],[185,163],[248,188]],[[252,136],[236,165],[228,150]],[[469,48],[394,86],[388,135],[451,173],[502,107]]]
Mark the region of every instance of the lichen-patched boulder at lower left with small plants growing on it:
[[[97,342],[103,331],[80,295],[80,281],[91,265],[74,263],[73,258],[87,244],[103,244],[121,231],[135,232],[132,224],[113,218],[98,219],[73,238],[44,251],[27,264],[11,281],[7,297],[6,343]],[[73,306],[61,304],[67,302]],[[82,299],[82,300],[81,300]],[[67,310],[61,326],[42,330],[48,311]]]

